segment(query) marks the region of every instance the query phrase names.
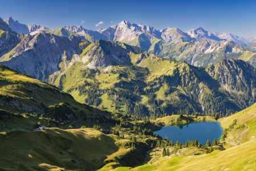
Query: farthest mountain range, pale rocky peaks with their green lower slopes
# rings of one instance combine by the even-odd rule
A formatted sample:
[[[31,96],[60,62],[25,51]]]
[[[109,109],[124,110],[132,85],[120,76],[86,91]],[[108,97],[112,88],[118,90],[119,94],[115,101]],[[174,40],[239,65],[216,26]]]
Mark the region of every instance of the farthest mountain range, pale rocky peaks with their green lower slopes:
[[[8,23],[14,22],[12,18],[5,21],[9,21]],[[9,25],[13,29],[17,29],[17,27]],[[123,21],[119,25],[106,29],[99,28],[97,31],[86,30],[82,26],[65,26],[56,30],[38,27],[37,30],[34,30],[34,33],[31,33],[32,35],[38,32],[46,32],[66,37],[77,35],[79,38],[90,42],[96,42],[100,39],[119,41],[140,47],[144,51],[162,58],[185,60],[194,66],[209,66],[220,62],[222,59],[229,58],[242,59],[254,65],[255,44],[250,44],[255,39],[254,36],[245,39],[233,34],[211,33],[201,27],[182,32],[178,28],[157,30],[152,26],[136,25]],[[250,57],[244,58],[245,56]]]

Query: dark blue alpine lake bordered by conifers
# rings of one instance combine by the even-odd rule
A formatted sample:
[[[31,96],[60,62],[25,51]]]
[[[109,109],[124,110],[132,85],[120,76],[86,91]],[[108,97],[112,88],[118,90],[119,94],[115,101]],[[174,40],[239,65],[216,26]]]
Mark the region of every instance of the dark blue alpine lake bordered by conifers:
[[[185,144],[187,139],[193,141],[197,139],[198,143],[205,145],[207,140],[211,143],[214,139],[220,140],[223,128],[219,122],[191,123],[180,127],[162,127],[154,133],[161,135],[162,139],[167,135],[168,140],[173,140],[173,143],[178,140]]]

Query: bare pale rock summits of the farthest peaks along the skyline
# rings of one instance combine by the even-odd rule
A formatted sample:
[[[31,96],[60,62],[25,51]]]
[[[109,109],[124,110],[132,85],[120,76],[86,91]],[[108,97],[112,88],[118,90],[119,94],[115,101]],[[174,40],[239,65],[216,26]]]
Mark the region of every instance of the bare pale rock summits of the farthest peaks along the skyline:
[[[4,20],[15,32],[23,34],[36,34],[41,30],[49,30],[49,28],[40,25],[24,25],[18,21],[14,21],[13,18],[9,17]],[[136,25],[128,21],[122,21],[119,25],[110,26],[108,28],[99,28],[97,31],[87,30],[82,26],[64,26],[66,30],[76,32],[80,35],[90,35],[95,40],[104,39],[111,41],[124,42],[125,40],[132,40],[139,36],[142,32],[148,32],[155,36],[157,39],[162,39],[165,42],[180,43],[190,42],[191,40],[228,40],[237,43],[239,46],[247,46],[254,40],[255,36],[250,38],[243,38],[238,35],[220,33],[220,32],[209,32],[204,30],[202,27],[197,29],[191,29],[186,32],[182,32],[178,28],[164,28],[157,30],[152,26],[145,26],[143,24]]]

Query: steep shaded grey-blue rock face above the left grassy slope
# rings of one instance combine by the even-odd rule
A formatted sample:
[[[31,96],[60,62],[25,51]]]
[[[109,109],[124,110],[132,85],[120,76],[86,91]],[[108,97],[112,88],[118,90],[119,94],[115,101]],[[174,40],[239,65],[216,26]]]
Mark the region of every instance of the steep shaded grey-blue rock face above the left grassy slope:
[[[44,33],[36,36],[27,35],[0,64],[44,80],[59,70],[58,64],[64,57],[72,58],[75,47],[80,42],[82,39],[77,36],[66,38]]]

